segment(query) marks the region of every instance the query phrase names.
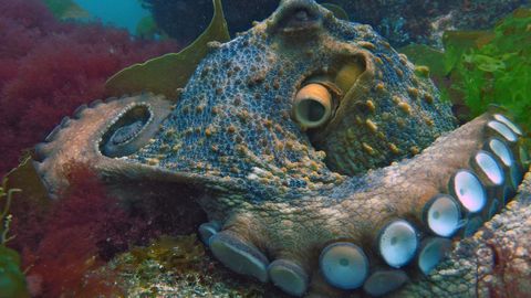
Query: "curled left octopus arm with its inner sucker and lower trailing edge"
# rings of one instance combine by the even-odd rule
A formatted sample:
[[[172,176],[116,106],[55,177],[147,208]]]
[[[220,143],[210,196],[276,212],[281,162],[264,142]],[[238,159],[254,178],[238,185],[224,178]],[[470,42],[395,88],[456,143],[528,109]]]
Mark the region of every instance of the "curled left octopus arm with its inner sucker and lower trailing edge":
[[[175,195],[168,190],[176,185],[221,184],[215,178],[125,158],[152,141],[171,108],[170,100],[148,93],[79,107],[72,118],[65,117],[44,142],[35,146],[33,164],[50,196],[59,198],[67,189],[69,171],[76,164],[87,167],[113,194],[126,201],[145,200],[154,193],[153,188],[162,185],[167,190],[157,195]]]

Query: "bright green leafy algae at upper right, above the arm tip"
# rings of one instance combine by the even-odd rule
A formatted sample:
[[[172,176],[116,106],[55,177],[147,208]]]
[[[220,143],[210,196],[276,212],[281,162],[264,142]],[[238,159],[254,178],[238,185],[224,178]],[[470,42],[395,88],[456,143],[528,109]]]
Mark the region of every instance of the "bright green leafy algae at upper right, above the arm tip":
[[[427,65],[458,117],[469,120],[499,105],[531,130],[531,10],[518,9],[489,31],[445,32],[445,52],[426,45],[400,51]]]

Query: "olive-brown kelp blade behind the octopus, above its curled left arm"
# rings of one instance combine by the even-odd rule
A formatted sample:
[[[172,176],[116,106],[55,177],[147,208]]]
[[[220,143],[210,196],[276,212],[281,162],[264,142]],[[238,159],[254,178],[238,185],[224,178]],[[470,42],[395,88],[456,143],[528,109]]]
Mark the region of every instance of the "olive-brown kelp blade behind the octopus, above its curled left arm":
[[[211,41],[228,40],[230,35],[221,0],[214,0],[212,20],[194,43],[179,53],[165,54],[127,67],[113,75],[105,87],[114,96],[147,91],[174,98],[177,96],[177,89],[188,83],[199,62],[207,55],[207,44]]]

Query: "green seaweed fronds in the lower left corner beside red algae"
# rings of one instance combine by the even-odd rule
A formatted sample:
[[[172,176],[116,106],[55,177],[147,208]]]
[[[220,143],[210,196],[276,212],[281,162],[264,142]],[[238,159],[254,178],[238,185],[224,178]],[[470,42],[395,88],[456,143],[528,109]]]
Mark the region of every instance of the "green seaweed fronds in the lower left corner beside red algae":
[[[11,224],[12,195],[19,189],[9,189],[7,179],[2,180],[0,187],[0,298],[28,297],[25,277],[20,269],[21,259],[17,251],[7,246],[7,243],[14,236],[9,236]]]

